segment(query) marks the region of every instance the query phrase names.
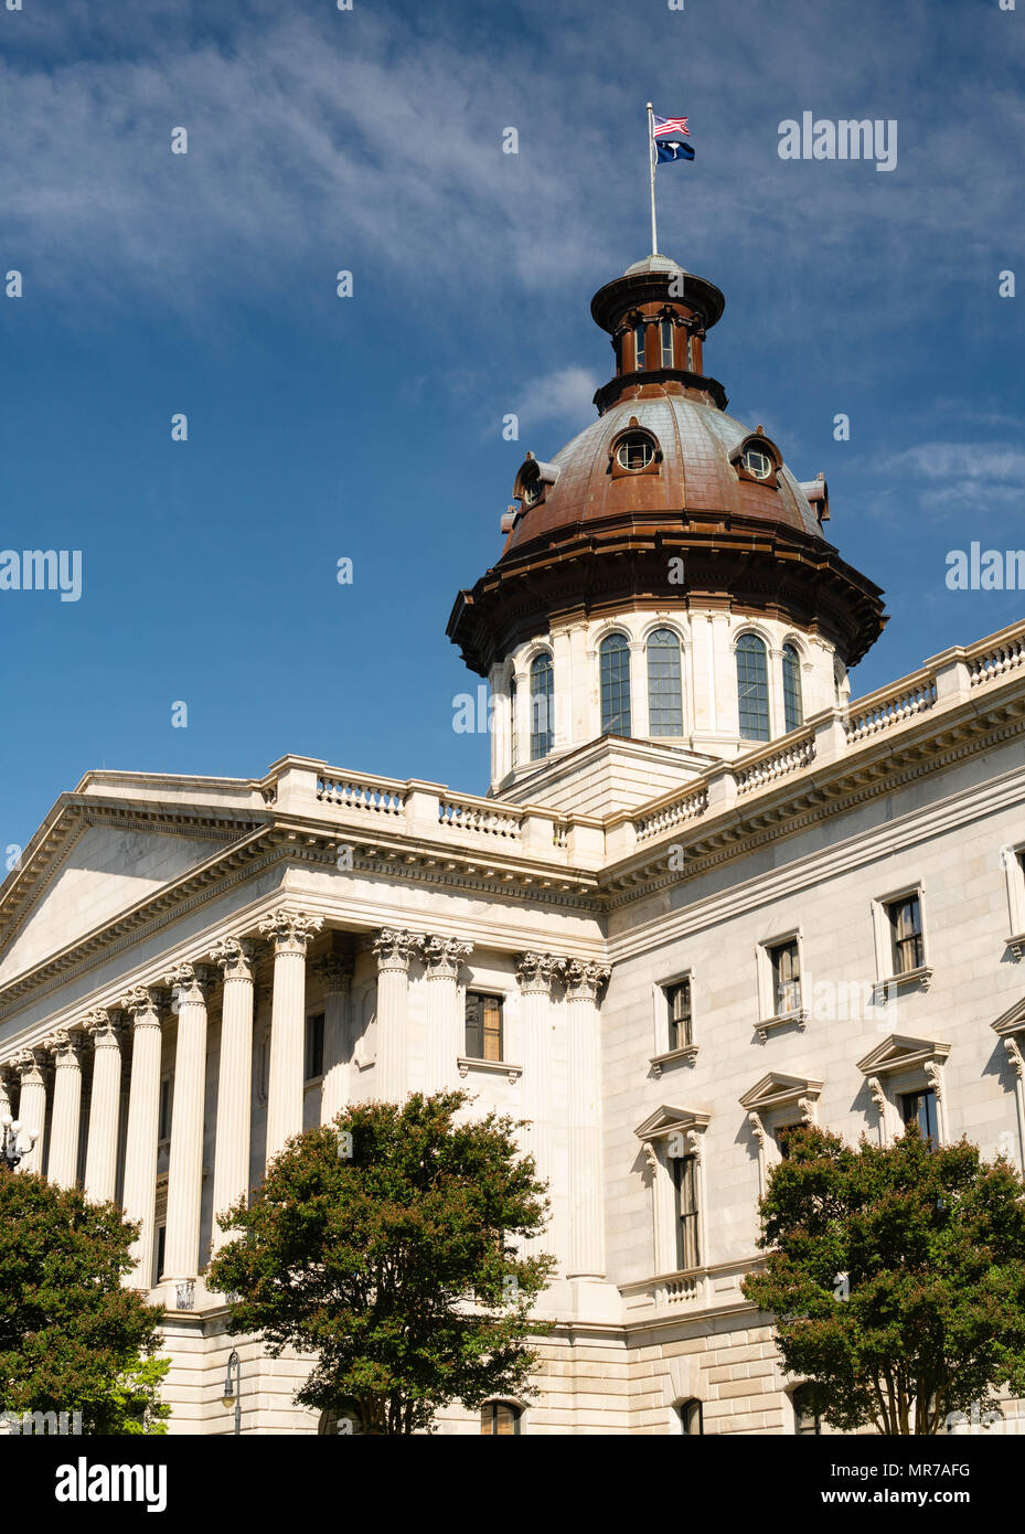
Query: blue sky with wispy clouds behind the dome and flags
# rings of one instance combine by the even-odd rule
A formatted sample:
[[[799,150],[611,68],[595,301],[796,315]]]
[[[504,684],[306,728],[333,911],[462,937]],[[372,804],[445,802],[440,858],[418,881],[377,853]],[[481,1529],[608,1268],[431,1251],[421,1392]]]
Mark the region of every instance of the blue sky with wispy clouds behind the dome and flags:
[[[0,546],[81,549],[83,595],[0,592],[2,845],[104,764],[298,752],[485,790],[445,621],[525,451],[611,373],[588,304],[648,250],[649,98],[690,117],[660,245],[726,293],[707,368],[826,471],[832,540],[887,591],[855,692],[1022,615],[944,577],[973,538],[1025,545],[1025,290],[997,291],[1025,279],[1025,5],[23,3]],[[781,161],[803,110],[896,118],[898,169]]]

